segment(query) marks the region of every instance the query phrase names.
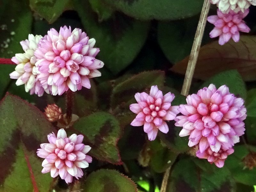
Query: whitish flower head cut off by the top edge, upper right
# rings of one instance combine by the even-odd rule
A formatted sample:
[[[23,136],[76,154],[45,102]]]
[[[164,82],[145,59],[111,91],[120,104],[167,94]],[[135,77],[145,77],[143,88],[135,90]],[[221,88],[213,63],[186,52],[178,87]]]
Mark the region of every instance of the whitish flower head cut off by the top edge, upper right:
[[[230,11],[244,12],[250,5],[256,5],[256,0],[211,0],[212,4],[217,4],[220,11],[228,13]]]

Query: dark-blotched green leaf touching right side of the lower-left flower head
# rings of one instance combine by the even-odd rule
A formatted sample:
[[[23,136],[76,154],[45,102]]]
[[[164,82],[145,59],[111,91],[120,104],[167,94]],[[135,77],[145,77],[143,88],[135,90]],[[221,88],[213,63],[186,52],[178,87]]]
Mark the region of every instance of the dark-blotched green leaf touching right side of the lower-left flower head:
[[[122,164],[117,148],[121,128],[114,116],[96,112],[80,118],[73,127],[73,131],[84,135],[85,142],[92,147],[90,154],[93,157],[112,164]]]

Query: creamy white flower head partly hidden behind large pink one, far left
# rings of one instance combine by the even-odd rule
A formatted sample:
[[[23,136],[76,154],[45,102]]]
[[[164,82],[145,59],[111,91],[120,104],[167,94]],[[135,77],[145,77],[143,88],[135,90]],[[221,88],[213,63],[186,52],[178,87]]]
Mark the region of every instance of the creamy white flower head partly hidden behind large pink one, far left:
[[[28,39],[21,41],[20,44],[24,53],[17,53],[15,57],[12,57],[12,61],[17,64],[15,71],[10,74],[12,79],[17,79],[16,85],[25,84],[25,91],[30,94],[36,93],[38,96],[44,94],[44,88],[38,80],[39,72],[36,69],[36,57],[34,52],[38,46],[41,35],[28,35]],[[48,90],[46,90],[48,92]]]

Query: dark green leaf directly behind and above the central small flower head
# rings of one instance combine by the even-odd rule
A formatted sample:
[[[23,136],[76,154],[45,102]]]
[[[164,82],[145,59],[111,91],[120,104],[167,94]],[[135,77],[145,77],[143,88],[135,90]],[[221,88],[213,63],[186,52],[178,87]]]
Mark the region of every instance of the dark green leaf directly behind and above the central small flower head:
[[[118,104],[124,103],[124,106],[128,107],[132,102],[135,102],[135,93],[143,91],[149,92],[152,85],[158,85],[160,88],[163,84],[163,71],[146,71],[134,75],[114,87],[110,99],[110,106],[114,108]]]

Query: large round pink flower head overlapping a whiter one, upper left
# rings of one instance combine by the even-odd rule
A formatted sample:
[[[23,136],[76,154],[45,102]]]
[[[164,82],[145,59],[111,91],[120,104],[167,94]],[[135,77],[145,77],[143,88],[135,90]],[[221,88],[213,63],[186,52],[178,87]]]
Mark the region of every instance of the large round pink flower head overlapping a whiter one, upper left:
[[[60,32],[51,28],[38,44],[36,67],[44,88],[51,86],[53,95],[61,95],[68,89],[75,92],[82,87],[91,88],[89,78],[101,76],[97,69],[104,63],[95,59],[100,51],[94,48],[95,39],[85,32],[71,27],[61,27]]]

